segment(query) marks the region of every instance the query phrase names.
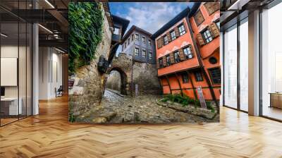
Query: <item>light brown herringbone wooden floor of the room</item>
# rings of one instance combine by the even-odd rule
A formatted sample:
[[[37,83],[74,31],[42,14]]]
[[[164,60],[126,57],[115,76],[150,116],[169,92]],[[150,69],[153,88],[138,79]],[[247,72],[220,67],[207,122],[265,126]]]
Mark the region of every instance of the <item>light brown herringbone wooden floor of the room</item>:
[[[282,123],[221,109],[220,123],[68,123],[68,100],[0,128],[0,157],[282,157]]]

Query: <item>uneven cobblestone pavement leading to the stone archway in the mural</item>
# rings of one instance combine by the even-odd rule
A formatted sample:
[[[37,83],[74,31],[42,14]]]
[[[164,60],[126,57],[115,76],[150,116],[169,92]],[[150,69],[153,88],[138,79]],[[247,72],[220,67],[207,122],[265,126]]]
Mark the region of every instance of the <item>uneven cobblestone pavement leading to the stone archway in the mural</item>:
[[[214,122],[157,104],[161,96],[142,95],[138,97],[121,97],[114,91],[105,90],[98,107],[80,116],[78,121],[89,123],[171,123],[171,122]]]

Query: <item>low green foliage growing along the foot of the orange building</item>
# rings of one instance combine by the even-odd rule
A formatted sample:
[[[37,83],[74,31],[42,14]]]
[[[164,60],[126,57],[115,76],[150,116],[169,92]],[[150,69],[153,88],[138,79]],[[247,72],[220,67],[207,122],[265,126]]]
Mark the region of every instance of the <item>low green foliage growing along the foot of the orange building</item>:
[[[190,104],[193,104],[195,107],[201,107],[200,100],[198,99],[192,99],[188,97],[187,95],[166,95],[163,99],[161,99],[161,102],[178,102],[179,104],[182,104],[183,107],[188,106]],[[211,102],[207,102],[207,109],[210,109],[212,112],[214,112],[214,107],[212,107]]]

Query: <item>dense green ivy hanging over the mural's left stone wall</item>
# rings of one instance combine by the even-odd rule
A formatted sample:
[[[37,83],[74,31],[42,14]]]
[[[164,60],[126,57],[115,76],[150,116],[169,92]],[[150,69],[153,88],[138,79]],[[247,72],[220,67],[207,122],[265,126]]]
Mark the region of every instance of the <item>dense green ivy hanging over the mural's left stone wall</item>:
[[[68,73],[90,64],[102,41],[104,18],[97,2],[71,2],[68,5],[69,53]]]

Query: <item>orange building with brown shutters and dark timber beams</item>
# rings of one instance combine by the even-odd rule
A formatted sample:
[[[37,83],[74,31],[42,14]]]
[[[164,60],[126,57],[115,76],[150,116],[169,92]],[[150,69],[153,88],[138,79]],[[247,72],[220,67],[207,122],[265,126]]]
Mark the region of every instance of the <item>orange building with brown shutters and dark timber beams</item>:
[[[152,35],[164,94],[219,100],[219,3],[195,3]]]

